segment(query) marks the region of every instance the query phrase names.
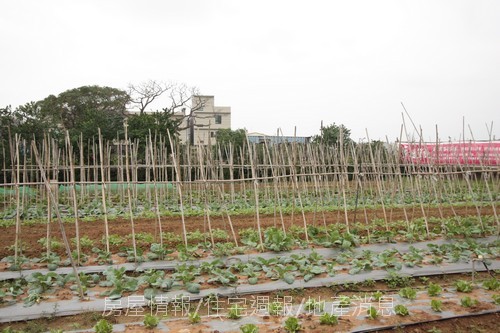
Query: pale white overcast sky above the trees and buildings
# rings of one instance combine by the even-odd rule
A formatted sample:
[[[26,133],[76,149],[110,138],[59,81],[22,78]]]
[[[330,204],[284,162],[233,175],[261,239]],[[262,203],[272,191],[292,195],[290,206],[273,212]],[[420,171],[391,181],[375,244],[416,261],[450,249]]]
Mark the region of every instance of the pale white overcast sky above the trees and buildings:
[[[0,42],[0,106],[154,79],[214,95],[233,129],[393,141],[403,102],[426,140],[463,118],[500,138],[497,0],[0,0]]]

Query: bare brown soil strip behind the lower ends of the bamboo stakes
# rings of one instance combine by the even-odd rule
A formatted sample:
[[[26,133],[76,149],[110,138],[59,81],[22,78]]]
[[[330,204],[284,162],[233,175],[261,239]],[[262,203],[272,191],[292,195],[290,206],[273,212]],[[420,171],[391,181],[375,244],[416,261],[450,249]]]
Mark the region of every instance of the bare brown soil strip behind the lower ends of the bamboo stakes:
[[[491,207],[481,207],[480,213],[482,215],[493,215],[493,210]],[[422,212],[420,207],[413,207],[407,209],[408,218],[416,219],[422,217]],[[454,211],[451,207],[443,207],[441,212],[437,208],[428,208],[426,209],[427,217],[440,217],[441,214],[443,217],[452,217],[454,214],[459,216],[468,216],[468,215],[476,215],[477,211],[475,207],[455,207]],[[389,219],[389,223],[391,221],[400,221],[405,219],[403,209],[387,209],[386,215]],[[375,219],[383,219],[384,212],[381,209],[370,209],[367,210],[368,221],[373,221]],[[345,224],[345,217],[343,211],[337,212],[325,212],[324,213],[325,220],[323,221],[323,213],[306,213],[305,218],[307,224],[312,225],[330,225],[335,223]],[[348,212],[349,224],[352,226],[356,222],[364,224],[365,217],[362,209],[358,210],[356,213],[356,220],[354,221],[354,212]],[[226,230],[231,237],[230,227],[228,224],[227,218],[223,218],[220,216],[212,216],[211,227],[212,228],[220,228]],[[239,230],[245,228],[257,228],[257,222],[255,216],[243,216],[243,215],[235,215],[231,216],[231,221],[235,229],[236,235]],[[208,231],[206,218],[203,216],[200,217],[186,217],[185,219],[186,229],[187,231],[195,231],[200,230],[203,232]],[[260,225],[261,228],[266,228],[270,226],[280,225],[280,217],[279,214],[277,216],[273,215],[261,215],[260,216]],[[290,227],[292,225],[295,226],[303,226],[302,214],[295,215],[285,215],[284,223],[286,227]],[[145,232],[158,235],[158,225],[155,219],[134,219],[135,232]],[[68,238],[75,237],[75,227],[74,224],[66,223],[64,225],[65,232]],[[177,235],[182,235],[182,224],[180,217],[164,217],[162,218],[162,230],[163,232],[172,232]],[[15,227],[5,227],[1,228],[0,232],[0,258],[9,256],[13,254],[13,250],[9,249],[9,246],[12,246],[15,243]],[[91,222],[80,222],[80,237],[87,236],[94,241],[94,244],[97,246],[101,245],[101,239],[104,235],[104,222],[103,220],[96,220]],[[116,234],[120,236],[127,236],[131,233],[131,223],[130,220],[118,218],[115,220],[109,221],[109,233]],[[23,254],[27,257],[36,257],[40,256],[40,253],[44,252],[44,247],[37,243],[37,241],[47,235],[47,225],[46,224],[30,224],[29,226],[21,226],[21,244],[25,245]],[[62,234],[60,228],[57,223],[51,223],[51,237],[62,240]],[[128,241],[128,243],[127,243]],[[127,240],[124,244],[120,246],[115,246],[111,248],[112,252],[116,252],[119,250],[121,246],[131,246],[129,240]],[[171,244],[172,246],[175,244]],[[141,244],[139,244],[141,246]],[[146,245],[144,245],[144,249],[146,249]],[[54,252],[58,252],[59,254],[63,254],[63,249],[55,250]],[[90,254],[90,249],[86,251],[86,253]],[[1,267],[0,267],[1,268]]]

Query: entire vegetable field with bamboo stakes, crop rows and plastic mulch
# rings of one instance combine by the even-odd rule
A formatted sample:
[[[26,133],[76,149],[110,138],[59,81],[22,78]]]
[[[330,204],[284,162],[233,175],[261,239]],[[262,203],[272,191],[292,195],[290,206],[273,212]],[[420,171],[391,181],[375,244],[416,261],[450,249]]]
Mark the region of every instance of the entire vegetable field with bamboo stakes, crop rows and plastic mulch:
[[[249,147],[239,165],[203,147],[161,167],[166,147],[150,146],[146,163],[132,147],[107,170],[61,159],[51,182],[50,154],[17,163],[0,193],[0,328],[494,326],[496,166],[402,165],[382,146]]]

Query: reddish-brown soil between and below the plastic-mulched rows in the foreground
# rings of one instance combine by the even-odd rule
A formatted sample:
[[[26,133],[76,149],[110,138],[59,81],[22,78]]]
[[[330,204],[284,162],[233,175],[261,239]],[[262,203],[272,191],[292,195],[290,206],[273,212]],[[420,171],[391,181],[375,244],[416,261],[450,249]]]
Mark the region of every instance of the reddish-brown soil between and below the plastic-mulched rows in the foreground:
[[[481,281],[484,279],[489,278],[490,276],[486,272],[481,272],[476,275],[476,281]],[[417,278],[414,280],[414,283],[412,284],[413,288],[417,289],[422,289],[425,288],[425,285],[427,283],[437,283],[440,284],[445,290],[447,287],[450,287],[453,285],[454,281],[457,280],[471,280],[470,274],[448,274],[448,275],[443,275],[443,276],[431,276],[428,277],[427,279],[420,279]],[[316,300],[330,300],[332,297],[339,296],[339,295],[346,295],[346,296],[353,296],[353,295],[358,295],[358,296],[363,296],[365,294],[371,294],[372,292],[375,292],[377,290],[380,290],[382,292],[387,292],[387,293],[394,293],[397,292],[397,289],[389,289],[386,283],[382,281],[377,281],[374,282],[374,284],[370,283],[369,285],[361,283],[357,285],[337,285],[335,287],[321,287],[321,288],[304,288],[304,289],[292,289],[286,292],[283,291],[275,291],[272,293],[263,293],[259,294],[258,296],[261,297],[268,297],[270,301],[277,300],[277,299],[283,299],[284,296],[291,296],[291,302],[293,304],[299,304],[301,302],[305,302],[310,298],[314,298]],[[472,293],[467,293],[463,295],[471,296],[472,298],[478,298],[478,295],[476,293],[479,290],[476,289]],[[240,299],[246,299],[246,304],[252,304],[251,302],[255,300],[256,295],[240,295],[238,296]],[[227,307],[227,304],[224,303],[227,301],[227,299],[221,299],[224,304],[224,306]],[[195,309],[198,306],[198,301],[193,301],[190,305],[190,309]],[[222,306],[224,308],[224,306]],[[475,313],[483,310],[491,310],[494,309],[495,307],[493,306],[492,303],[486,303],[486,302],[481,302],[479,305],[473,307],[473,308],[464,308],[459,305],[459,300],[453,300],[453,301],[444,301],[443,302],[443,308],[446,310],[452,310],[455,313],[460,313],[460,314],[467,314],[467,313]],[[213,313],[213,312],[211,312]],[[202,302],[200,308],[199,308],[199,314],[201,316],[204,316],[204,319],[200,324],[196,325],[191,325],[185,318],[185,316],[181,316],[182,319],[179,320],[174,320],[174,321],[169,321],[169,322],[164,322],[165,324],[168,325],[169,331],[170,332],[213,332],[208,329],[206,325],[203,324],[204,321],[206,321],[206,316],[209,314],[209,311],[207,309],[207,304],[205,302]],[[301,315],[301,323],[302,326],[305,328],[303,332],[325,332],[329,331],[330,327],[328,326],[322,326],[319,325],[318,318],[317,317],[311,317],[308,315]],[[396,330],[396,332],[427,332],[427,329],[432,328],[433,326],[436,326],[440,328],[440,325],[445,325],[446,323],[453,323],[450,325],[459,325],[459,323],[462,323],[461,325],[468,325],[469,320],[472,321],[474,324],[471,324],[471,326],[462,326],[462,327],[475,327],[475,330],[472,330],[472,332],[495,332],[494,330],[488,330],[487,328],[492,327],[494,324],[495,320],[498,320],[498,317],[494,317],[492,315],[488,316],[481,316],[484,318],[484,321],[479,321],[479,323],[482,325],[479,325],[475,323],[476,318],[465,318],[461,320],[447,320],[443,322],[436,322],[435,324],[432,325],[417,325],[417,326],[410,326],[410,327],[405,327],[400,330]],[[25,329],[29,327],[30,325],[38,325],[40,327],[43,327],[44,329],[64,329],[64,330],[75,330],[75,329],[90,329],[92,328],[95,323],[103,318],[102,313],[83,313],[79,314],[76,316],[69,316],[69,317],[50,317],[46,319],[40,319],[40,320],[33,320],[30,322],[18,322],[18,323],[6,323],[6,324],[0,324],[0,330],[3,328],[6,328],[8,326],[12,327],[13,329]],[[109,322],[113,324],[127,324],[127,323],[134,323],[134,322],[141,322],[143,317],[142,316],[127,316],[127,315],[121,315],[121,316],[107,316],[105,317]],[[171,317],[172,318],[172,317]],[[384,325],[403,325],[404,323],[409,323],[409,322],[415,322],[415,321],[426,321],[426,320],[434,320],[437,319],[438,316],[435,316],[433,314],[425,313],[423,311],[415,311],[413,310],[411,312],[410,317],[399,317],[399,316],[388,316],[388,317],[379,317],[375,319],[375,321],[383,323]],[[496,319],[495,319],[496,318]],[[175,317],[174,317],[175,319]],[[281,319],[278,317],[274,316],[264,316],[263,317],[264,322],[267,323],[266,325],[259,325],[259,332],[261,333],[267,333],[267,332],[282,332],[285,333],[284,330],[282,329],[274,329],[270,327],[281,327]],[[221,320],[228,320],[224,316],[222,317]],[[363,321],[356,319],[352,316],[344,316],[339,318],[339,324],[334,326],[335,332],[348,332],[350,329],[353,327],[359,326],[362,324]],[[418,330],[418,328],[422,327],[427,327],[428,328],[424,330]],[[446,326],[446,325],[445,325]],[[450,327],[455,327],[455,326],[450,326]],[[480,329],[482,327],[485,327],[486,330],[481,331]],[[182,331],[182,330],[188,329],[188,331]],[[415,330],[414,330],[415,329]],[[441,328],[440,328],[441,329]],[[127,326],[126,332],[152,332],[152,330],[147,330],[141,325],[136,325],[136,324],[130,324]],[[385,331],[384,331],[385,332]],[[387,333],[389,330],[387,331]],[[390,330],[390,332],[394,332],[394,330]],[[451,332],[451,330],[442,330],[442,332]],[[465,332],[465,331],[464,331]]]

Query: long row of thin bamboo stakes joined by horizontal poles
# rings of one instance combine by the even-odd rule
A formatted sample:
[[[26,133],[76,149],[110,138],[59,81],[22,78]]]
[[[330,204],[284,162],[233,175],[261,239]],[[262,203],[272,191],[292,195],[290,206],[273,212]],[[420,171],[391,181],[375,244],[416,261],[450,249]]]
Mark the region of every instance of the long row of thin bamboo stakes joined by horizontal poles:
[[[402,127],[403,133],[403,127]],[[367,138],[368,138],[368,132]],[[346,141],[346,142],[344,142]],[[436,130],[436,143],[439,138]],[[125,126],[122,140],[104,142],[99,130],[97,138],[71,144],[66,133],[64,144],[56,142],[47,135],[42,142],[29,142],[26,138],[15,135],[8,147],[2,147],[3,189],[14,189],[14,194],[3,195],[4,206],[16,207],[15,258],[19,256],[21,241],[21,212],[30,203],[47,204],[47,240],[51,234],[51,220],[55,215],[61,229],[68,256],[72,259],[69,242],[59,212],[59,204],[70,204],[74,212],[76,230],[77,262],[80,262],[80,226],[78,207],[93,198],[101,202],[106,250],[109,252],[108,205],[119,202],[128,207],[130,231],[134,254],[137,257],[135,237],[134,206],[141,196],[140,186],[145,188],[146,201],[152,203],[159,234],[162,233],[161,207],[164,203],[177,204],[183,230],[183,242],[187,246],[185,206],[201,202],[204,208],[206,227],[210,241],[214,244],[211,225],[211,204],[217,203],[227,218],[231,235],[238,245],[237,231],[231,222],[229,207],[238,200],[245,200],[255,208],[255,226],[259,234],[260,245],[263,243],[259,208],[261,201],[272,202],[275,220],[286,233],[282,207],[285,201],[291,201],[292,221],[294,214],[300,212],[306,241],[309,240],[308,221],[304,201],[314,200],[323,222],[325,212],[322,207],[337,202],[338,212],[343,211],[346,230],[350,230],[348,200],[361,193],[362,201],[372,198],[383,211],[385,228],[389,230],[390,217],[386,200],[403,200],[406,193],[415,198],[410,205],[402,205],[406,223],[410,224],[407,209],[420,207],[427,234],[429,224],[426,204],[429,200],[437,202],[442,214],[442,206],[449,205],[453,210],[452,197],[465,190],[476,209],[481,228],[484,224],[480,207],[484,201],[491,205],[498,230],[500,224],[496,212],[500,191],[499,164],[480,165],[471,168],[460,164],[427,165],[401,161],[401,145],[379,142],[374,145],[368,139],[366,143],[355,144],[344,140],[341,133],[339,145],[323,144],[252,144],[248,138],[244,145],[226,146],[185,146],[172,140],[170,133],[152,135],[145,142],[130,141]],[[500,156],[497,158],[500,161]],[[10,163],[8,163],[10,162]],[[169,189],[169,184],[175,187]],[[465,184],[465,186],[464,186]],[[59,185],[65,185],[67,192],[58,191]],[[79,188],[77,187],[79,186]],[[94,186],[89,186],[94,185]],[[100,186],[97,186],[100,185]],[[113,194],[111,185],[118,185],[118,192]],[[151,186],[150,186],[151,185]],[[24,189],[38,189],[35,197],[25,194]],[[100,187],[100,190],[98,188]],[[44,189],[44,190],[42,190]],[[480,193],[478,193],[480,191]],[[479,195],[479,199],[477,198]],[[253,198],[252,198],[253,196]],[[117,198],[115,198],[117,197]],[[425,197],[430,198],[428,200]],[[485,200],[483,200],[486,198]],[[296,206],[297,205],[297,206]],[[366,206],[362,205],[365,222],[369,224]],[[454,211],[454,210],[453,210]],[[354,218],[356,220],[356,218]],[[160,244],[163,239],[159,237]],[[50,242],[47,241],[47,254]],[[76,268],[75,268],[76,271]]]

